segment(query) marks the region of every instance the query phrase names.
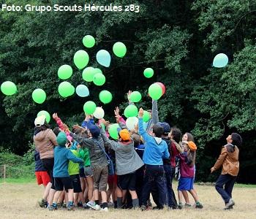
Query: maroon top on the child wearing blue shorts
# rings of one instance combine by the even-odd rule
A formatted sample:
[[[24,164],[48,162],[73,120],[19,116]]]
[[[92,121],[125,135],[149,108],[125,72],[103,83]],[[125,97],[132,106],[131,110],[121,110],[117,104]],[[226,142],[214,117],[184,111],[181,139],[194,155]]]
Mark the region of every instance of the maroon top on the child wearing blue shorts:
[[[187,152],[180,153],[177,155],[178,158],[180,158],[180,173],[181,177],[189,177],[194,178],[195,177],[195,165],[189,166],[187,164]]]

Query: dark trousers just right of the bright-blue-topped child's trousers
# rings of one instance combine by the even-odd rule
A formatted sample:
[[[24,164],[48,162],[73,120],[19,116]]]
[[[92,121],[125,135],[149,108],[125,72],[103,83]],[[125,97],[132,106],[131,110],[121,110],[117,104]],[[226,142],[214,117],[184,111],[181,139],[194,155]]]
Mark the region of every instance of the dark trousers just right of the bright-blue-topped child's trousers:
[[[165,178],[166,178],[166,185],[167,185],[167,204],[168,207],[176,208],[177,207],[177,201],[176,196],[173,191],[173,178],[175,177],[175,167],[172,167],[170,165],[164,165],[165,169]]]

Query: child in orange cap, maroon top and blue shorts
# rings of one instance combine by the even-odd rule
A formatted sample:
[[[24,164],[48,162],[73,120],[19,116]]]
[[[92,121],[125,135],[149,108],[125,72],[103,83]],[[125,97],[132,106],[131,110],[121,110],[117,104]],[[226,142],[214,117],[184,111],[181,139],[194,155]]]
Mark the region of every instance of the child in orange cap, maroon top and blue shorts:
[[[181,177],[178,180],[178,191],[184,193],[189,191],[195,199],[195,207],[203,208],[203,204],[199,202],[197,193],[194,191],[195,177],[195,150],[197,146],[194,142],[183,142],[184,153],[180,153],[177,157],[180,159]],[[179,205],[181,204],[181,196],[178,195]],[[189,203],[187,203],[189,204]],[[189,204],[190,205],[190,204]]]

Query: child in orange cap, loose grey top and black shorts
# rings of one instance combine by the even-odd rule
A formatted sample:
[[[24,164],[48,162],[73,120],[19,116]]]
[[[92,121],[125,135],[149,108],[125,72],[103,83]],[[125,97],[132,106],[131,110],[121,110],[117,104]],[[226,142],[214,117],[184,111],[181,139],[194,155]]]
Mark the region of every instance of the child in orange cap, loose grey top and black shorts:
[[[118,142],[108,139],[105,133],[102,138],[105,145],[116,152],[116,174],[118,175],[118,187],[122,190],[122,196],[117,197],[117,207],[121,207],[122,199],[126,196],[127,190],[132,196],[132,207],[139,207],[139,200],[136,193],[136,170],[143,166],[139,155],[134,150],[134,142],[129,131],[118,129]]]

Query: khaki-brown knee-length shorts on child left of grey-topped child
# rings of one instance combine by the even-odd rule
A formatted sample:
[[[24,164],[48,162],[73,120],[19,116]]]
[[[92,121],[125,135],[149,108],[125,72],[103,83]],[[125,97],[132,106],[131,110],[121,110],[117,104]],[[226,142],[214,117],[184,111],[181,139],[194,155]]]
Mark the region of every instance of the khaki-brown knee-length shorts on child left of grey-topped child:
[[[92,169],[94,177],[94,190],[107,191],[108,185],[108,165],[103,167],[94,167]]]

